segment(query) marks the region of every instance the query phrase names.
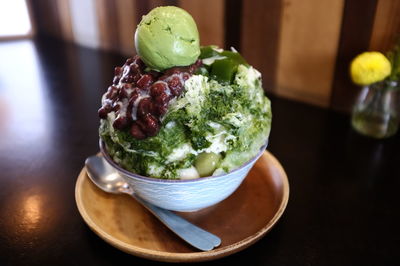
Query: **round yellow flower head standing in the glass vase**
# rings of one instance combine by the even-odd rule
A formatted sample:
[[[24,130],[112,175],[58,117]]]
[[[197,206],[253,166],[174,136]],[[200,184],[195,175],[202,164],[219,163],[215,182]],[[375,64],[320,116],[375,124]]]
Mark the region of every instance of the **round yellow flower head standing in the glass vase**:
[[[350,65],[351,78],[358,85],[384,80],[391,71],[389,60],[379,52],[364,52],[354,58]]]

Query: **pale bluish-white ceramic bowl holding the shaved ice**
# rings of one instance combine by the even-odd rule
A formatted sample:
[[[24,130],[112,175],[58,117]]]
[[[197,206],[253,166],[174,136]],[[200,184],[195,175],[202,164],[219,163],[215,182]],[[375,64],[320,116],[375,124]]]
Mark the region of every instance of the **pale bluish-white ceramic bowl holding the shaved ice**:
[[[169,180],[145,177],[129,172],[116,164],[100,141],[100,150],[106,161],[119,172],[142,199],[164,209],[189,212],[212,206],[230,196],[242,183],[248,172],[263,154],[258,154],[230,173],[191,180]]]

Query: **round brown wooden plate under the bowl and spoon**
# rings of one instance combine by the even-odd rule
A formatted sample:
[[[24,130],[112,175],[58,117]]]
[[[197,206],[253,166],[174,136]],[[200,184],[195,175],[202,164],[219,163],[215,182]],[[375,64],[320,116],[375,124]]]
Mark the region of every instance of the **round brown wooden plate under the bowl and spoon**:
[[[266,151],[229,198],[197,212],[179,213],[222,239],[218,248],[202,252],[175,236],[133,198],[98,189],[85,168],[75,187],[79,212],[97,235],[124,252],[167,262],[207,261],[243,250],[271,230],[288,198],[286,173]]]

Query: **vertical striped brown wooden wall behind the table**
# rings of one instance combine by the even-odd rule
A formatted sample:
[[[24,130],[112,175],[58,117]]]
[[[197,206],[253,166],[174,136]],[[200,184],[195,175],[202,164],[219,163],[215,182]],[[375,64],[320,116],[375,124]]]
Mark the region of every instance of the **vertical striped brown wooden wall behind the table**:
[[[358,88],[348,65],[386,51],[400,33],[399,0],[27,0],[39,34],[135,53],[141,16],[160,5],[186,9],[201,44],[231,46],[263,74],[266,91],[348,111]]]

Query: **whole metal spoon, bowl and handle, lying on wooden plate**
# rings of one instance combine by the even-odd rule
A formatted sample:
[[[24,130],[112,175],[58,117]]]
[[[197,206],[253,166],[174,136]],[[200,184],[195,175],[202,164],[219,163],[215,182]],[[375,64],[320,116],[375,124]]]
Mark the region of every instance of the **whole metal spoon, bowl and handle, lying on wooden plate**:
[[[166,209],[159,208],[139,198],[125,180],[110,166],[103,157],[91,156],[85,161],[86,170],[93,183],[105,192],[126,193],[135,198],[154,214],[171,231],[193,247],[202,251],[212,250],[221,244],[221,239]]]

